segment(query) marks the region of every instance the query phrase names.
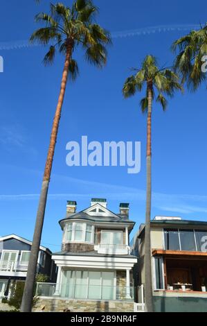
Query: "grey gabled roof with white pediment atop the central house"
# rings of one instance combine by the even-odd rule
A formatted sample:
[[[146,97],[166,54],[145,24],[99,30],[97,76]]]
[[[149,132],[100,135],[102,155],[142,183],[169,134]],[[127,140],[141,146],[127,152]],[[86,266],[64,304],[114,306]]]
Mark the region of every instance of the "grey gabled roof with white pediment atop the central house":
[[[103,207],[99,203],[92,205],[81,212],[70,214],[67,213],[65,218],[59,221],[60,226],[62,227],[62,223],[66,220],[87,220],[93,222],[105,222],[105,223],[129,223],[134,225],[134,221],[129,221],[128,216],[123,216],[120,214],[115,214],[111,212],[109,209]]]

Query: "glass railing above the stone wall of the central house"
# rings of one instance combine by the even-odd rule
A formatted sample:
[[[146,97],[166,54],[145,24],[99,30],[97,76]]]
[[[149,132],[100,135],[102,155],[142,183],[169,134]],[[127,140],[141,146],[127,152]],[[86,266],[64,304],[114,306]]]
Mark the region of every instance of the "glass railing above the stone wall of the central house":
[[[58,292],[57,292],[58,289]],[[134,300],[134,287],[89,284],[37,283],[38,297],[58,297],[75,300]]]

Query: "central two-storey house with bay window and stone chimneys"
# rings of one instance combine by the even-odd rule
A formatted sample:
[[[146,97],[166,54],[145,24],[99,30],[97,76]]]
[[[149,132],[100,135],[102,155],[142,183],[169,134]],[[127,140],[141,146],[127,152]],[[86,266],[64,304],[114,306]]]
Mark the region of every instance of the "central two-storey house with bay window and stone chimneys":
[[[60,221],[62,250],[53,254],[58,266],[57,284],[39,284],[39,307],[45,311],[134,311],[130,255],[129,204],[115,214],[105,199],[92,199],[91,207],[76,213],[69,201]]]

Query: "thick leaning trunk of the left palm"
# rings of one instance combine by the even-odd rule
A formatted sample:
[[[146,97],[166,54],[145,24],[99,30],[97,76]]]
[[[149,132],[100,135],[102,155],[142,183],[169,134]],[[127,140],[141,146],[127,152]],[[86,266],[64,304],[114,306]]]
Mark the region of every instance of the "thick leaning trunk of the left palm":
[[[24,294],[21,301],[21,312],[30,312],[32,309],[33,302],[33,291],[35,284],[35,275],[37,271],[37,259],[39,254],[39,246],[42,237],[42,228],[44,223],[44,213],[46,209],[46,200],[48,194],[48,186],[51,178],[51,169],[53,166],[53,157],[55,153],[55,144],[57,141],[57,132],[60,123],[62,104],[64,101],[64,94],[66,90],[66,83],[69,74],[69,64],[73,51],[73,40],[68,43],[66,51],[66,60],[64,63],[64,71],[62,74],[62,83],[60,89],[60,95],[58,98],[57,108],[55,112],[55,118],[53,120],[53,129],[51,132],[51,141],[48,149],[48,156],[46,159],[46,166],[44,170],[44,178],[42,182],[42,190],[39,198],[39,207],[37,210],[37,218],[35,224],[35,232],[33,235],[33,244],[30,252],[30,259],[28,264],[28,272],[26,276],[26,283],[24,286]]]

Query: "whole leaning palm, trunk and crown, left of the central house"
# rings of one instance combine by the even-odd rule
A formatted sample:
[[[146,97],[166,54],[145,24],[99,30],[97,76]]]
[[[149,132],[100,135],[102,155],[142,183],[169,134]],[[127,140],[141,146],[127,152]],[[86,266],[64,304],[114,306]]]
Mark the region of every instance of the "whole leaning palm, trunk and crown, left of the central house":
[[[59,49],[60,53],[64,55],[65,62],[60,96],[58,98],[51,132],[51,141],[48,149],[48,156],[46,158],[24,295],[21,302],[21,311],[24,312],[31,310],[33,300],[37,257],[42,236],[48,185],[51,178],[55,143],[57,140],[57,131],[60,123],[66,83],[69,77],[74,79],[78,74],[78,64],[73,59],[73,53],[78,46],[82,46],[84,56],[89,63],[100,68],[105,65],[107,61],[107,50],[105,49],[105,45],[111,42],[109,33],[98,24],[93,23],[94,15],[98,10],[96,6],[93,6],[92,1],[76,0],[73,2],[71,8],[64,6],[62,3],[57,3],[55,5],[51,4],[50,9],[50,15],[44,12],[37,15],[37,22],[44,22],[46,26],[35,31],[30,37],[30,41],[39,42],[44,45],[51,43],[50,49],[44,57],[44,63],[46,65],[53,62],[56,49]]]

